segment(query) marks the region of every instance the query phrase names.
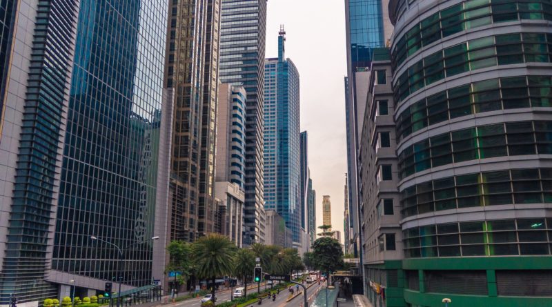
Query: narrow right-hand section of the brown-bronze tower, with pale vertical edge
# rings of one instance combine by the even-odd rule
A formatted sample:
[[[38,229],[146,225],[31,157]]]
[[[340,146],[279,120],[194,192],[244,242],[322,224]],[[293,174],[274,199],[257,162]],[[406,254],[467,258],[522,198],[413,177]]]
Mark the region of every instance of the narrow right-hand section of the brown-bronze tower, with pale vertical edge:
[[[220,1],[207,0],[205,30],[205,68],[201,110],[201,143],[199,146],[199,235],[215,232],[213,220],[217,206],[215,197],[215,139],[217,95],[219,86]]]

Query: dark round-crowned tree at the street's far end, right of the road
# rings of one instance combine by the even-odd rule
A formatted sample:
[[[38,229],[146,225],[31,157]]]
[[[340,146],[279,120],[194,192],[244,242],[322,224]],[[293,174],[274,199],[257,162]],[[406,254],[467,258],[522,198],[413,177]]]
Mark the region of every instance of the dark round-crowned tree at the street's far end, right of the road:
[[[329,277],[333,271],[343,266],[343,250],[341,244],[331,237],[316,239],[313,244],[313,263],[317,270],[321,270]]]

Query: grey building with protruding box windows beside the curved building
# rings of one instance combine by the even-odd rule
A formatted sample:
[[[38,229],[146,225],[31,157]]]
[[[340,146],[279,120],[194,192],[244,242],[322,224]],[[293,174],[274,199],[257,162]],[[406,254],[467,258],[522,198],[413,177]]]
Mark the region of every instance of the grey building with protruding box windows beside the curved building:
[[[400,267],[402,252],[402,232],[400,228],[399,192],[397,184],[397,143],[395,141],[395,121],[393,119],[393,90],[391,88],[391,61],[386,48],[374,48],[371,55],[369,81],[366,82],[368,106],[359,139],[359,195],[364,208],[361,212],[362,228],[362,270],[364,270],[365,291],[373,304],[380,304],[380,297],[369,288],[375,274],[390,277],[386,296],[391,301],[400,299],[402,293],[394,292],[393,274]],[[371,137],[371,142],[364,137]],[[371,177],[371,178],[368,178]],[[368,226],[369,225],[369,226]],[[378,284],[384,284],[377,281]],[[400,292],[400,290],[399,290]],[[390,302],[391,302],[390,301]]]

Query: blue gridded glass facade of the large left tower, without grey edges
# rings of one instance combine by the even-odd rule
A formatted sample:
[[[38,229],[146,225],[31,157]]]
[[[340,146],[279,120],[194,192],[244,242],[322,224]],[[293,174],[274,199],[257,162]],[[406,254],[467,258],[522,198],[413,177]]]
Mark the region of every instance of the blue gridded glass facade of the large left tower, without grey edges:
[[[91,235],[121,247],[159,235],[166,14],[163,1],[80,2],[52,270],[111,279],[117,252]],[[150,284],[152,244],[125,254],[125,284]]]

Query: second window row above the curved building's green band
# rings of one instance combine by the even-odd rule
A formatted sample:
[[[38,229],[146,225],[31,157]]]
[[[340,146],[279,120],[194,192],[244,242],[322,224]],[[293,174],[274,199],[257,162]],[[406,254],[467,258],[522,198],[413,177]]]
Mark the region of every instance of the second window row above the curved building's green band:
[[[401,191],[402,215],[447,209],[552,201],[552,168],[477,172],[410,186]]]

